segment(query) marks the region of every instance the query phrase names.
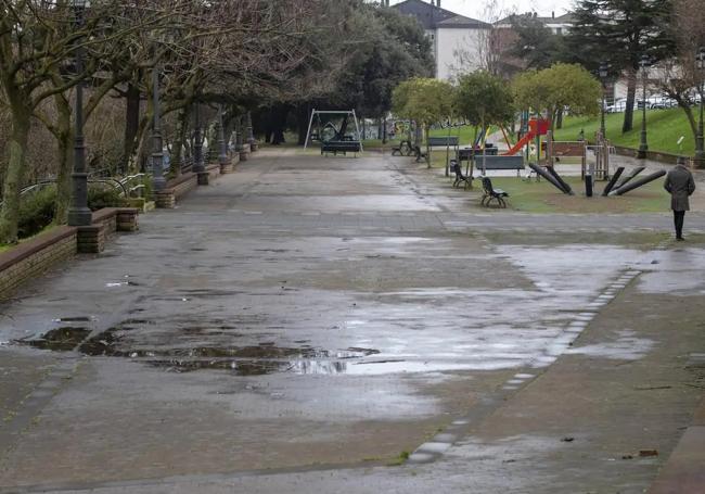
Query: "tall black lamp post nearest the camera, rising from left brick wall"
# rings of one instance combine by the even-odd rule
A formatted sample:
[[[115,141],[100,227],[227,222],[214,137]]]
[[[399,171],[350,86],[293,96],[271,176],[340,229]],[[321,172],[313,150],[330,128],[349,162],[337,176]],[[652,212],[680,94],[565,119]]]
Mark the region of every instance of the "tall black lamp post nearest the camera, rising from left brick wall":
[[[84,15],[90,7],[88,0],[72,0],[74,8],[76,28],[84,27]],[[81,40],[79,39],[80,43]],[[76,75],[81,76],[84,72],[84,48],[76,48]],[[88,174],[86,173],[86,147],[84,144],[84,84],[76,85],[75,104],[75,135],[74,135],[74,172],[72,178],[70,205],[68,207],[68,225],[86,226],[92,221],[91,211],[88,208]]]

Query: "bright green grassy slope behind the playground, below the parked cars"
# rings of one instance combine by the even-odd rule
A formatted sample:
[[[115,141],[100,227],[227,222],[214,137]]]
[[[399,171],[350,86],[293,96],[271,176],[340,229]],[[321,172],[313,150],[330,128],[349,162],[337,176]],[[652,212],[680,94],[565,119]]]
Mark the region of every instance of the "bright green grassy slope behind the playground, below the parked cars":
[[[639,148],[641,132],[641,111],[634,112],[634,128],[627,134],[621,134],[624,113],[610,113],[605,115],[605,129],[607,139],[613,144],[626,148]],[[574,141],[580,129],[585,129],[585,137],[593,140],[595,131],[600,128],[600,116],[597,117],[567,117],[563,121],[563,128],[555,131],[555,140]],[[651,151],[663,151],[680,154],[676,143],[684,136],[682,153],[692,155],[695,151],[693,132],[688,124],[685,113],[681,109],[648,110],[646,135]]]

